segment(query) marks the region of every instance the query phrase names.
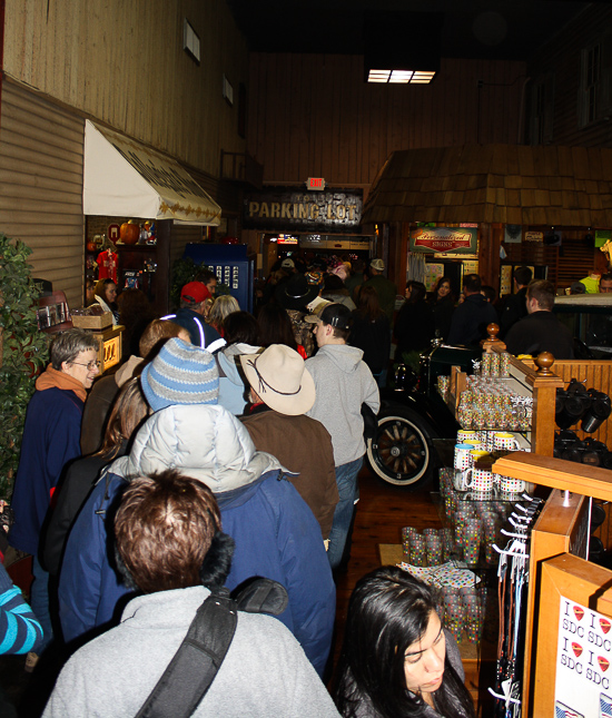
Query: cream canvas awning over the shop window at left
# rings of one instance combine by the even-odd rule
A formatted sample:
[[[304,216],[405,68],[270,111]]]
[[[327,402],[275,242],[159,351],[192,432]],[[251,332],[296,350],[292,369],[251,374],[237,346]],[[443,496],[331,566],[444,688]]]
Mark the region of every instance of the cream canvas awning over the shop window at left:
[[[177,161],[86,120],[83,213],[218,226],[221,208]]]

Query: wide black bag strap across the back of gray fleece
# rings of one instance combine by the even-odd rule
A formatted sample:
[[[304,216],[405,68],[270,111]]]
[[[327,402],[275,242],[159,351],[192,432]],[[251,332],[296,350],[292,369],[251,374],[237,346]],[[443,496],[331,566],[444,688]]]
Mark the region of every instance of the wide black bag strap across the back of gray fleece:
[[[137,718],[188,718],[223,663],[236,632],[237,606],[227,590],[199,607],[168,668]]]

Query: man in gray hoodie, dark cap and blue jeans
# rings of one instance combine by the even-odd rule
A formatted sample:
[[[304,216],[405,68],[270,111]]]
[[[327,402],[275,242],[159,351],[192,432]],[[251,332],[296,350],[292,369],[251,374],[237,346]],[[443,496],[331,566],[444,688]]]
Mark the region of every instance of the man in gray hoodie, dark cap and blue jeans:
[[[365,402],[377,414],[381,397],[376,381],[363,361],[364,353],[346,343],[351,333],[351,309],[343,304],[329,304],[318,316],[307,319],[315,325],[318,351],[306,361],[316,388],[315,404],[306,414],[319,421],[332,436],[340,496],[327,551],[334,570],[342,562],[354,506],[359,498],[357,474],[365,454],[362,404]]]

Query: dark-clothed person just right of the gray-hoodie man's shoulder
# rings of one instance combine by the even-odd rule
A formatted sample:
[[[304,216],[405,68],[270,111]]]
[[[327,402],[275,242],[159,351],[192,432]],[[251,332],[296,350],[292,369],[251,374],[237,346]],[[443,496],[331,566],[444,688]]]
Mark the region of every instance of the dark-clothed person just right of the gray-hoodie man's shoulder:
[[[348,343],[363,351],[364,362],[376,383],[384,386],[391,353],[391,326],[374,287],[365,285],[359,292]]]

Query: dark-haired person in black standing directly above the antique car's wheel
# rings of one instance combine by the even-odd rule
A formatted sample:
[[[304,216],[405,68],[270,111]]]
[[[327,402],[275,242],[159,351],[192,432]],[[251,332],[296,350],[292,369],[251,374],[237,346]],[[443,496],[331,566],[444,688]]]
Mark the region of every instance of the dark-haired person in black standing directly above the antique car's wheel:
[[[395,319],[394,335],[397,343],[395,361],[418,367],[418,354],[430,346],[434,337],[434,315],[425,302],[426,289],[421,282],[408,282],[406,301]]]

